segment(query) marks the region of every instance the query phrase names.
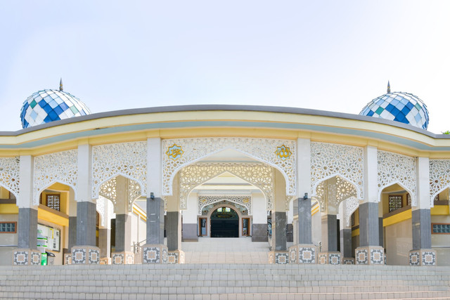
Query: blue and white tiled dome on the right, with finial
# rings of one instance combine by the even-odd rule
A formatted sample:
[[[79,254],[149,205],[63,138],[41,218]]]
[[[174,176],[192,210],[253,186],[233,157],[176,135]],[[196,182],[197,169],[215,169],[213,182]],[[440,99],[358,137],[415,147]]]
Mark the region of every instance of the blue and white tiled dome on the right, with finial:
[[[387,93],[373,99],[361,110],[359,115],[390,119],[421,129],[428,129],[429,117],[425,103],[412,93],[391,93],[389,84]]]

